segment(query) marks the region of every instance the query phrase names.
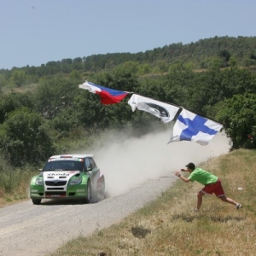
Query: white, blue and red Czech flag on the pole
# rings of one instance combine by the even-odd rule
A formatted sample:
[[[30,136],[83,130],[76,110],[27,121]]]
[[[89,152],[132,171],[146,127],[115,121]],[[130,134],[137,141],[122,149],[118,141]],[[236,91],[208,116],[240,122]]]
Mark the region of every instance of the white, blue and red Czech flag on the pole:
[[[93,84],[86,81],[84,84],[79,84],[79,88],[89,90],[101,96],[102,104],[115,104],[120,102],[129,94],[128,91],[113,90],[102,85]]]

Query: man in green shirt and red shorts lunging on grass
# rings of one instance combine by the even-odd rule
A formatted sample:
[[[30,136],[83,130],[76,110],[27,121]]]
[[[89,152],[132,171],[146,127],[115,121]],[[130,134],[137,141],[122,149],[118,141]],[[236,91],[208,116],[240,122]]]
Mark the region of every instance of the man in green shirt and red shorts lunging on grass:
[[[201,168],[195,168],[194,163],[189,163],[186,167],[187,170],[181,169],[181,171],[189,172],[190,175],[188,178],[181,176],[179,172],[175,172],[175,175],[177,177],[180,177],[185,183],[188,183],[189,181],[197,181],[198,183],[201,183],[202,185],[205,186],[197,194],[197,207],[195,208],[196,212],[200,210],[203,195],[212,195],[212,193],[214,193],[222,201],[228,202],[236,206],[236,209],[241,208],[241,204],[239,204],[238,202],[234,201],[229,197],[226,197],[221,181],[217,176],[213,175],[211,172],[204,171]]]

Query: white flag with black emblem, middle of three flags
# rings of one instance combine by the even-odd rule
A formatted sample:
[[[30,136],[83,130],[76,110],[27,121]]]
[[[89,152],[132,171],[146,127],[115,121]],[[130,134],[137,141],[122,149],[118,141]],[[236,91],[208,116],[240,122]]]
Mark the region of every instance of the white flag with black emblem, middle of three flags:
[[[163,123],[172,121],[179,110],[177,106],[155,101],[154,99],[139,96],[137,94],[133,94],[131,96],[128,104],[131,105],[132,111],[135,111],[137,108],[139,110],[152,113],[154,116],[160,118]]]

